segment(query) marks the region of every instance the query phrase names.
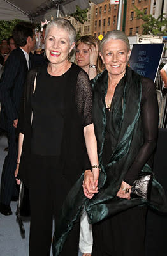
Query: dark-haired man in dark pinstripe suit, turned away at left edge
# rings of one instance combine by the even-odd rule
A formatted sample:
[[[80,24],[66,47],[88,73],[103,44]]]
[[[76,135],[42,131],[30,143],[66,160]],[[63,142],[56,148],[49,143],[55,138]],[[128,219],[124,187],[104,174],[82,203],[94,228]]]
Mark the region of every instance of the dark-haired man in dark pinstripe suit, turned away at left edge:
[[[29,22],[20,22],[13,29],[13,38],[18,47],[8,57],[0,80],[0,127],[8,136],[8,155],[4,159],[0,193],[0,212],[4,215],[12,214],[10,202],[13,196],[18,195],[15,182],[15,169],[19,164],[18,140],[15,129],[24,81],[30,68],[29,52],[34,49],[36,43],[33,26]]]

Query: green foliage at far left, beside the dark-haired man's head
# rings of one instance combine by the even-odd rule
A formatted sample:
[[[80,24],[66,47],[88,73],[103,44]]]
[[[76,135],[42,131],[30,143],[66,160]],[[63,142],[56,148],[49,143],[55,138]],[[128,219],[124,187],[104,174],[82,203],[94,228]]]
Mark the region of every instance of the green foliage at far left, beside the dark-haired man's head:
[[[15,19],[11,21],[0,20],[0,42],[4,38],[8,39],[11,36],[13,28],[17,25],[21,20]]]

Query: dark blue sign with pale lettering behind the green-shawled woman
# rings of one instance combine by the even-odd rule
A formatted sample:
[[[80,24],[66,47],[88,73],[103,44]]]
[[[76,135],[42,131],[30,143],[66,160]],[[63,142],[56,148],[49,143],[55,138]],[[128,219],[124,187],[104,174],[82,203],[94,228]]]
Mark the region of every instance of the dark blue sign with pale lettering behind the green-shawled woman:
[[[134,44],[129,66],[141,76],[156,79],[164,44]]]

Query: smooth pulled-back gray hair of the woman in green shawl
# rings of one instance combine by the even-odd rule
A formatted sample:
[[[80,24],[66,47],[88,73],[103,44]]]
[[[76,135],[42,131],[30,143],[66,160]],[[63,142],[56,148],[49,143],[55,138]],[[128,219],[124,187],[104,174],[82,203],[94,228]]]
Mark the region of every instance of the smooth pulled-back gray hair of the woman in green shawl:
[[[100,51],[103,52],[103,45],[110,39],[113,40],[122,40],[127,45],[127,51],[130,50],[130,44],[129,39],[127,38],[126,34],[122,32],[121,30],[113,30],[106,33],[106,35],[103,37],[103,40],[100,44]]]

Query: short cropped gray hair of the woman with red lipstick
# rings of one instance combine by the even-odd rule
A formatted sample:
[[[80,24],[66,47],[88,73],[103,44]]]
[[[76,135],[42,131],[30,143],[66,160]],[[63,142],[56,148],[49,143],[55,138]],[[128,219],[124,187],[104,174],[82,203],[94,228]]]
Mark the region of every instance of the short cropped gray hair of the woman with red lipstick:
[[[56,19],[51,20],[50,22],[48,22],[47,28],[46,28],[46,31],[45,31],[45,38],[48,35],[48,31],[52,27],[57,27],[59,29],[64,29],[65,31],[67,31],[68,34],[69,34],[70,45],[72,45],[73,42],[76,42],[76,30],[73,27],[73,25],[71,24],[71,22],[69,22],[69,20],[64,19],[64,18],[56,18]]]

